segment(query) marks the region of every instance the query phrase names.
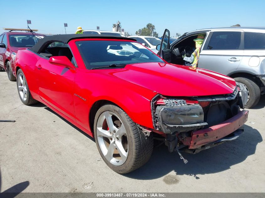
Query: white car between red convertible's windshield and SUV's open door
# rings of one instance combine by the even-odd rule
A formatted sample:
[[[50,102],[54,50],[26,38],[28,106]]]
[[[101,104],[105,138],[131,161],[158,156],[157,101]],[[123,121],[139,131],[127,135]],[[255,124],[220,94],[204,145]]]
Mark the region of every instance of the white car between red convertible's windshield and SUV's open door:
[[[161,40],[159,38],[152,36],[129,36],[129,38],[134,38],[138,43],[146,46],[154,53],[158,52],[158,50],[156,50],[156,45],[161,44]]]

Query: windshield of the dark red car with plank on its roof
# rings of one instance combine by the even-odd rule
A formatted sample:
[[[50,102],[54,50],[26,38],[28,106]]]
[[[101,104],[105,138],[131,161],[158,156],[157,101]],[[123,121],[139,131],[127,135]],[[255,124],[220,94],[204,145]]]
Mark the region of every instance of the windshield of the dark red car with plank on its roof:
[[[32,34],[12,34],[9,35],[9,44],[11,47],[30,48],[35,45],[40,38],[44,36]]]

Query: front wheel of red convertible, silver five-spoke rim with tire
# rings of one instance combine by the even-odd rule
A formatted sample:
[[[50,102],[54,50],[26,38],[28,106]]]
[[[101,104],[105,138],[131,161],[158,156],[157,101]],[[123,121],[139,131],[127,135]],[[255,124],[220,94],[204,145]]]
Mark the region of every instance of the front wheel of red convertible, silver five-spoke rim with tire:
[[[119,107],[106,104],[97,112],[95,140],[105,163],[115,172],[129,173],[151,157],[153,134],[145,136]]]

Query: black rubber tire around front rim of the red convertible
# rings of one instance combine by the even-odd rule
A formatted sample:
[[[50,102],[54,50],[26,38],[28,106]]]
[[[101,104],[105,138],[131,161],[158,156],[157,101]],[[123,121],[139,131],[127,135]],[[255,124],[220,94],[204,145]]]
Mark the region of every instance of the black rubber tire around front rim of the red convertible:
[[[110,111],[116,114],[125,126],[127,133],[126,137],[128,140],[128,156],[123,165],[116,166],[111,164],[105,158],[99,147],[96,126],[99,116],[105,111]],[[151,133],[149,136],[144,135],[144,133],[141,132],[140,129],[138,129],[137,125],[132,121],[132,119],[121,108],[115,105],[105,104],[98,109],[94,121],[94,133],[97,148],[102,159],[112,170],[119,174],[129,173],[135,169],[140,168],[150,159],[152,155],[153,134]]]

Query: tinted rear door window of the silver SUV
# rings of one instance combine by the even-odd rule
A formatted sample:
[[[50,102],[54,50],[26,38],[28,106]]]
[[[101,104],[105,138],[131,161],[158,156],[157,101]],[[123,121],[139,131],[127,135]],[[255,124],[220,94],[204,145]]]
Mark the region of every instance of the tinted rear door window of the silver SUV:
[[[241,32],[214,32],[209,41],[207,49],[239,49],[241,43]]]

